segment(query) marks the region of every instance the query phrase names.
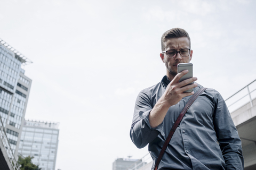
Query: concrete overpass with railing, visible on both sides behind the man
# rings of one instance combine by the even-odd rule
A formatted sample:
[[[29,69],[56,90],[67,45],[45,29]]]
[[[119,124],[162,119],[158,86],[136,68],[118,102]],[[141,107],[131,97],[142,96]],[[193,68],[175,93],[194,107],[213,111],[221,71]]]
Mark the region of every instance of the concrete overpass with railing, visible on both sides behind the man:
[[[256,80],[237,91],[225,100],[230,115],[242,140],[244,170],[256,169]],[[149,154],[142,157],[147,162],[143,167],[135,166],[127,170],[150,170],[152,161],[145,161]],[[152,160],[152,159],[151,159]]]

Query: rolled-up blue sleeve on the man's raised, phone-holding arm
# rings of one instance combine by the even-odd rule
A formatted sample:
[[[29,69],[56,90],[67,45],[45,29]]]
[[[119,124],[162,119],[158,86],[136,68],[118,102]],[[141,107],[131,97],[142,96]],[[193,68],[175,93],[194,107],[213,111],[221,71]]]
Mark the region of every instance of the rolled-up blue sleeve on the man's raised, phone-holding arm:
[[[153,141],[162,132],[163,123],[156,128],[151,128],[148,115],[153,109],[150,91],[142,90],[136,101],[130,130],[132,142],[138,148],[143,148]]]

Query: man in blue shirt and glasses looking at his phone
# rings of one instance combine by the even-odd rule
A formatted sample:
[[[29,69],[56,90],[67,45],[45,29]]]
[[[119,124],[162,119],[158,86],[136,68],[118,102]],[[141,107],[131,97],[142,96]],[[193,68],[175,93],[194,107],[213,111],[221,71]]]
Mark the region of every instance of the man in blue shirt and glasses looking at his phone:
[[[166,76],[142,90],[136,100],[130,137],[138,148],[148,145],[153,167],[175,120],[187,101],[203,88],[193,77],[179,79],[177,64],[193,56],[188,33],[180,28],[166,31],[161,39],[161,60]],[[187,85],[192,83],[190,85]],[[186,86],[187,85],[187,86]],[[184,92],[193,88],[193,92]],[[218,142],[217,142],[218,141]],[[218,91],[206,89],[188,109],[167,146],[158,169],[243,169],[241,140],[225,101]]]

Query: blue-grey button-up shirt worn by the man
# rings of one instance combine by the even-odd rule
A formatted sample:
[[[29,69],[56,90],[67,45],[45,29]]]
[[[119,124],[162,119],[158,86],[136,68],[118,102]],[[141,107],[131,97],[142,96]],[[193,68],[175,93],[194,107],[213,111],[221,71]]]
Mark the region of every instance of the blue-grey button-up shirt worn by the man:
[[[151,128],[148,115],[170,81],[165,76],[142,90],[135,102],[130,137],[138,148],[148,145],[153,169],[159,152],[177,117],[191,96],[167,111],[164,121]],[[202,88],[194,88],[196,92]],[[243,169],[241,140],[225,100],[218,91],[206,89],[190,106],[166,148],[158,169]]]

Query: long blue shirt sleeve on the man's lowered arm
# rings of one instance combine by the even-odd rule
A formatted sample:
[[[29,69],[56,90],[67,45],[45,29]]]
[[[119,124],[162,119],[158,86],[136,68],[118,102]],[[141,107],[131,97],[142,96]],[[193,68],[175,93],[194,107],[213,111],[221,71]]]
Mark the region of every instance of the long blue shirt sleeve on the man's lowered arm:
[[[244,169],[242,143],[225,100],[215,93],[214,127],[226,169]]]

